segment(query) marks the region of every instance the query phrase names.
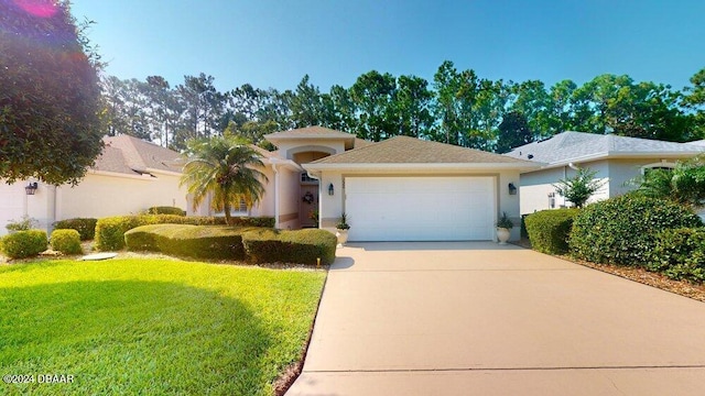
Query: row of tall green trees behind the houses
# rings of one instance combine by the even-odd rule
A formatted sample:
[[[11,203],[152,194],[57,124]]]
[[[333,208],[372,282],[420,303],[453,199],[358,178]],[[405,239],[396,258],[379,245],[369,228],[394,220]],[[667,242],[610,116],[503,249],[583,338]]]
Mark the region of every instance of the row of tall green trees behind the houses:
[[[705,68],[691,84],[676,90],[605,74],[581,86],[566,79],[547,87],[482,78],[449,61],[432,81],[371,70],[327,92],[308,75],[283,91],[249,84],[218,91],[214,77],[203,73],[173,87],[160,76],[106,76],[102,124],[109,135],[175,150],[224,133],[264,145],[263,134],[311,125],[370,141],[408,135],[500,153],[568,130],[685,142],[705,139]]]

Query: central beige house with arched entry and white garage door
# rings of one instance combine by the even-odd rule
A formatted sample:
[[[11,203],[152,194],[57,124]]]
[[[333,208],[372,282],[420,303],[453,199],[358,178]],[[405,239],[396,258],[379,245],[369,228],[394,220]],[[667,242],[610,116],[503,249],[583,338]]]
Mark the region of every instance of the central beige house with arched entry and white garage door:
[[[477,150],[398,136],[379,143],[321,127],[264,136],[265,193],[249,211],[276,228],[335,232],[343,212],[350,241],[494,240],[502,212],[519,238],[519,173],[539,165]],[[511,185],[511,187],[510,187]],[[204,206],[197,215],[217,215]]]

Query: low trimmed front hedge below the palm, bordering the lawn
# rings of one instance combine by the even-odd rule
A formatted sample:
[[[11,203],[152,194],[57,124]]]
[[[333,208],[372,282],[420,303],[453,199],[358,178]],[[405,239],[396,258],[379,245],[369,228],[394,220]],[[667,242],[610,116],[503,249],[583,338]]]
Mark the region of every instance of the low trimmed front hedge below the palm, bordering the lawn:
[[[131,251],[158,251],[193,258],[245,260],[241,233],[251,229],[228,226],[154,224],[124,233]]]

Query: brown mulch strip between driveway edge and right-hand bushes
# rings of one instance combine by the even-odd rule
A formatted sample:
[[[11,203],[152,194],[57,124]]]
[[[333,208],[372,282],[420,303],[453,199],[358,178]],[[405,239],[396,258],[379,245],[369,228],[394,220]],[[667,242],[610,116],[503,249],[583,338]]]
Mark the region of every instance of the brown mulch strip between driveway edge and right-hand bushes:
[[[521,240],[518,245],[527,249],[531,249],[531,243],[527,240]],[[674,280],[665,275],[659,273],[649,272],[644,268],[632,266],[619,266],[612,264],[595,264],[582,260],[576,260],[567,255],[557,255],[557,257],[565,261],[570,261],[575,264],[579,264],[586,267],[590,267],[604,273],[620,276],[625,279],[638,282],[640,284],[649,285],[660,288],[662,290],[671,292],[684,297],[688,297],[698,301],[705,302],[705,284],[693,284],[687,280]]]

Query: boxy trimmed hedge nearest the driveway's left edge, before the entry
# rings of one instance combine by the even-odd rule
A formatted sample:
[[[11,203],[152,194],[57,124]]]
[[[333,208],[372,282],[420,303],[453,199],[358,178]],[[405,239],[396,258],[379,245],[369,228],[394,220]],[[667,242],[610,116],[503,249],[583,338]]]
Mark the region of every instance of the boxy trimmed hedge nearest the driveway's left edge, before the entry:
[[[258,230],[242,235],[245,252],[253,263],[322,264],[335,261],[336,237],[325,230]]]

